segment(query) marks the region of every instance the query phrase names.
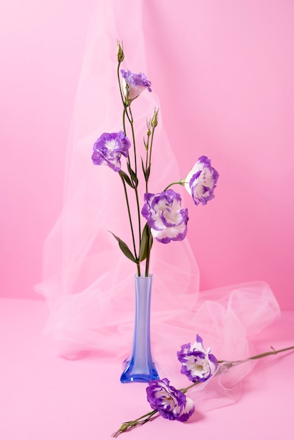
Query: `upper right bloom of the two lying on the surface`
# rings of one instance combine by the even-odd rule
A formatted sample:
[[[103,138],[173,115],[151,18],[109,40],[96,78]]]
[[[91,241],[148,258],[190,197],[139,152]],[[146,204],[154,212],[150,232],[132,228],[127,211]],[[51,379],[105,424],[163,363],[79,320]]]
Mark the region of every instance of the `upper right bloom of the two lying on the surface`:
[[[181,373],[192,382],[205,382],[217,370],[217,358],[210,353],[210,349],[204,349],[199,335],[194,344],[182,345],[177,356],[181,362]]]

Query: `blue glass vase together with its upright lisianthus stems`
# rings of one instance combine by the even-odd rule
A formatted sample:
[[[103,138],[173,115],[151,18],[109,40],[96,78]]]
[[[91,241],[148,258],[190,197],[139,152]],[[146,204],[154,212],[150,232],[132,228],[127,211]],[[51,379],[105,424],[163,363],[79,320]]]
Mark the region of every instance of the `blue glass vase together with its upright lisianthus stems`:
[[[146,136],[143,137],[142,148],[139,150],[131,106],[134,100],[139,99],[143,91],[152,91],[151,81],[143,72],[135,74],[128,69],[120,69],[123,60],[124,51],[118,42],[117,79],[122,101],[122,127],[120,131],[101,134],[94,143],[92,161],[95,165],[107,165],[120,176],[129,217],[132,245],[127,244],[115,233],[112,232],[112,234],[124,256],[136,264],[133,347],[128,361],[124,364],[121,381],[148,382],[148,380],[158,378],[151,356],[150,337],[152,277],[149,274],[149,264],[153,238],[162,244],[167,244],[171,241],[184,240],[187,234],[188,209],[181,207],[181,195],[170,187],[176,184],[184,186],[192,196],[195,205],[200,203],[206,205],[208,200],[214,198],[219,174],[212,168],[210,160],[206,156],[200,156],[194,167],[188,172],[186,179],[170,183],[166,188],[161,188],[159,193],[149,192],[148,184],[151,175],[155,129],[158,126],[158,110],[155,109],[147,121]],[[141,159],[140,174],[138,157]],[[124,160],[122,160],[123,158]],[[143,181],[143,192],[145,193],[142,207],[139,196],[139,182],[141,181]],[[134,200],[133,204],[131,198]],[[131,206],[135,206],[135,209],[131,209]],[[143,228],[141,226],[142,216],[143,219],[146,219]],[[142,271],[143,262],[145,262],[145,267]],[[150,285],[148,293],[146,285]],[[141,290],[145,293],[139,295],[138,291]],[[141,297],[144,296],[142,301]]]

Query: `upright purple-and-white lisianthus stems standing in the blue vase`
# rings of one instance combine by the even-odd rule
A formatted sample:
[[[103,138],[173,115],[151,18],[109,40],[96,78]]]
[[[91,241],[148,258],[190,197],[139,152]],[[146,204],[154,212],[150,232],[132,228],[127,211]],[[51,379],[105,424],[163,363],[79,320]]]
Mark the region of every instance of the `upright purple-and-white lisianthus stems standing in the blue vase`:
[[[147,139],[143,139],[146,150],[145,162],[141,156],[141,166],[145,180],[146,193],[143,207],[139,200],[139,174],[138,157],[139,144],[136,142],[134,130],[134,117],[132,114],[132,102],[139,98],[146,89],[151,92],[151,82],[142,72],[132,73],[130,70],[120,69],[124,60],[124,51],[120,41],[117,41],[117,81],[119,84],[120,97],[122,100],[122,130],[117,133],[103,133],[94,143],[92,160],[95,165],[108,165],[114,172],[120,174],[124,188],[124,196],[127,204],[127,215],[132,235],[132,247],[113,233],[120,250],[124,255],[136,264],[138,276],[141,276],[141,262],[146,260],[145,276],[149,275],[151,248],[153,238],[167,244],[171,241],[181,241],[186,238],[188,210],[181,208],[181,195],[170,189],[170,186],[179,183],[185,186],[192,196],[196,205],[206,205],[208,200],[214,198],[214,189],[218,179],[218,173],[210,165],[206,156],[199,157],[198,161],[187,174],[186,179],[170,183],[161,193],[149,193],[148,181],[151,175],[151,157],[153,153],[153,140],[155,129],[158,126],[158,109],[153,112],[153,117],[147,121]],[[130,139],[127,131],[131,133]],[[129,149],[132,145],[132,154]],[[137,148],[138,147],[138,148]],[[121,160],[124,160],[124,171]],[[164,167],[164,164],[162,164]],[[131,195],[134,198],[136,212],[130,207]],[[141,215],[145,217],[146,224],[141,227]],[[136,219],[136,222],[134,221]]]

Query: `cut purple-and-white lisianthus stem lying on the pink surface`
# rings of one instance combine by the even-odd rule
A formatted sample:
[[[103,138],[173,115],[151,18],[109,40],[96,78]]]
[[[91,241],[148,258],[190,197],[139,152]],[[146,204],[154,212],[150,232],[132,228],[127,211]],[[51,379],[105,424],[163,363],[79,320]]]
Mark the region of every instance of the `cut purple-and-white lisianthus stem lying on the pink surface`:
[[[276,355],[282,353],[283,351],[294,350],[294,346],[280,350],[275,350],[273,347],[271,347],[271,349],[272,351],[266,351],[262,354],[250,356],[249,358],[243,359],[241,361],[217,361],[217,365],[222,364],[229,369],[244,362],[264,358],[266,356]],[[203,356],[201,356],[201,354]],[[186,394],[186,392],[188,392],[189,389],[196,387],[196,385],[200,384],[201,382],[204,382],[205,380],[210,379],[210,377],[212,377],[214,373],[217,372],[217,368],[215,369],[214,373],[212,374],[209,373],[207,377],[204,377],[205,366],[207,367],[208,365],[208,367],[211,367],[212,365],[215,365],[215,360],[213,359],[212,361],[209,361],[209,356],[213,356],[213,355],[210,355],[210,349],[207,349],[207,351],[203,349],[202,339],[198,335],[195,344],[193,345],[185,344],[181,347],[181,351],[178,352],[179,360],[183,360],[183,356],[184,358],[186,358],[186,360],[188,358],[188,361],[186,361],[186,363],[185,362],[182,363],[181,373],[186,374],[190,379],[192,377],[191,380],[193,380],[193,384],[189,385],[186,388],[181,388],[177,390],[174,389],[174,387],[170,386],[170,382],[167,379],[149,381],[148,387],[146,389],[147,399],[151,404],[151,408],[153,408],[153,410],[150,411],[149,413],[141,415],[141,417],[135,420],[124,422],[122,426],[112,434],[113,437],[117,438],[117,436],[122,434],[122,432],[129,431],[129,429],[132,429],[138,425],[143,425],[149,420],[152,420],[155,417],[155,415],[162,415],[162,417],[168,418],[170,420],[179,420],[179,421],[188,420],[190,415],[193,413],[194,408],[192,406],[191,399],[189,399],[184,395]],[[191,357],[194,358],[192,363],[190,362]],[[213,358],[214,357],[215,356],[213,356]],[[201,361],[199,362],[201,358],[203,361],[202,368],[200,368]],[[198,379],[195,379],[197,374],[198,374]],[[194,379],[193,379],[193,375],[195,375]],[[172,406],[172,403],[174,403],[174,406]]]

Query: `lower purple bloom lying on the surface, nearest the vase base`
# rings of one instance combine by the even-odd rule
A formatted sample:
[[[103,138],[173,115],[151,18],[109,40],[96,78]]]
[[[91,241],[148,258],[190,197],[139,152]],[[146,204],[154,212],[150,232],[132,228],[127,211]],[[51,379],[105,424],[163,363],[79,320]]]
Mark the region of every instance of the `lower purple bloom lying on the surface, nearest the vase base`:
[[[186,422],[195,410],[193,401],[179,389],[170,386],[170,381],[166,377],[150,380],[146,392],[151,408],[158,410],[165,419]]]

